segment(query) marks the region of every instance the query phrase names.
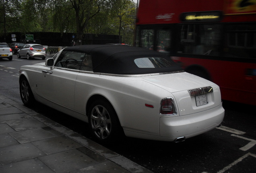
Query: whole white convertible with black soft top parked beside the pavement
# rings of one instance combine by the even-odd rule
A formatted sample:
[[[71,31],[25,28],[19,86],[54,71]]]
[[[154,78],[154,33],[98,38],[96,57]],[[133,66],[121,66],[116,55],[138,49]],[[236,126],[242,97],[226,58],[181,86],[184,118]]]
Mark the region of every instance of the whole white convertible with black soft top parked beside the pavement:
[[[21,66],[20,94],[89,123],[93,136],[184,141],[214,129],[224,109],[217,84],[184,72],[168,56],[122,45],[68,47]]]

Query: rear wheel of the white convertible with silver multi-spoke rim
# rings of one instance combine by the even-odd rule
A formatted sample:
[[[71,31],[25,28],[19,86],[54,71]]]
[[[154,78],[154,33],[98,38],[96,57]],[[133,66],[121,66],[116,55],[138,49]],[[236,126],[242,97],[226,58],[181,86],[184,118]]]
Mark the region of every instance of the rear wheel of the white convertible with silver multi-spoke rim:
[[[123,132],[116,111],[107,101],[94,101],[89,108],[88,119],[91,134],[101,143],[115,141]]]

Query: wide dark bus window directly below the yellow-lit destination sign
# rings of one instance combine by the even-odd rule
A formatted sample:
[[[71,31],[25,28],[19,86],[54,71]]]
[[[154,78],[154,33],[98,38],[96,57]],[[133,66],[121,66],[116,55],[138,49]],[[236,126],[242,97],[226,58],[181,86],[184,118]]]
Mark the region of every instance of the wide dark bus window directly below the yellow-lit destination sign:
[[[178,53],[219,56],[221,25],[182,24]]]

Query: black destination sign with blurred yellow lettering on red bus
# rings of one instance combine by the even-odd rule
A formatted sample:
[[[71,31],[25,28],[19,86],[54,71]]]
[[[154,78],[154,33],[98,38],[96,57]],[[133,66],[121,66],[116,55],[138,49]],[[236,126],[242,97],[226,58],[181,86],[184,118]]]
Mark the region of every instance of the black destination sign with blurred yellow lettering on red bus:
[[[182,22],[217,22],[222,18],[221,11],[185,12],[180,16]]]

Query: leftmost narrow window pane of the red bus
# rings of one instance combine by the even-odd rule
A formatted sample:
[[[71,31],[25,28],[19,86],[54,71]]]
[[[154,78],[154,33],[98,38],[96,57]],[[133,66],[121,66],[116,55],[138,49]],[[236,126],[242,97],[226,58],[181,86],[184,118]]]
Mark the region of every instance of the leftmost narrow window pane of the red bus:
[[[153,49],[154,30],[141,30],[140,31],[140,46],[147,49]]]

